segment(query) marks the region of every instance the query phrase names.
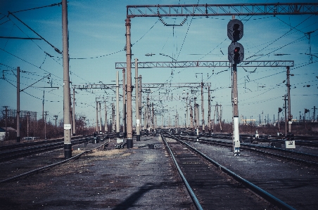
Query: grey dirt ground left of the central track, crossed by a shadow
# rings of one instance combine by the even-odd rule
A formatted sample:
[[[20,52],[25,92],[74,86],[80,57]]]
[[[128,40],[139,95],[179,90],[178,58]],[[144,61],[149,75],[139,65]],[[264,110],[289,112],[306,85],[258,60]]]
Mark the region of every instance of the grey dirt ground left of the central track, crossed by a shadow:
[[[133,149],[113,145],[112,150],[0,184],[0,209],[195,209],[159,137],[134,141]],[[63,159],[56,153],[56,159]],[[32,164],[43,164],[41,157],[31,158]],[[21,173],[25,166],[18,162],[1,164],[1,171]]]

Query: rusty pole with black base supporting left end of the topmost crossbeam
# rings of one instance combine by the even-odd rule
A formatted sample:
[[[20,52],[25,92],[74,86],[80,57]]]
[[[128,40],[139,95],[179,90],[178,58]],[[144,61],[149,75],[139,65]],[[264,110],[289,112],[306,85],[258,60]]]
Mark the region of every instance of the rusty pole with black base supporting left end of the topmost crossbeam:
[[[127,57],[127,148],[132,142],[132,51],[130,41],[130,18],[126,19],[126,57]]]

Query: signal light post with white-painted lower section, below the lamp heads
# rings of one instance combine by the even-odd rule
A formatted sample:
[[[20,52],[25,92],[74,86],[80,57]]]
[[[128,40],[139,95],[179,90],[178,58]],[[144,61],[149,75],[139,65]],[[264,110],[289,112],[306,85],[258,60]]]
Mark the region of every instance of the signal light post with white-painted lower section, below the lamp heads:
[[[239,136],[239,101],[237,91],[237,68],[236,64],[233,67],[233,124],[234,124],[234,155],[240,154],[240,136]],[[221,122],[220,122],[221,123]]]

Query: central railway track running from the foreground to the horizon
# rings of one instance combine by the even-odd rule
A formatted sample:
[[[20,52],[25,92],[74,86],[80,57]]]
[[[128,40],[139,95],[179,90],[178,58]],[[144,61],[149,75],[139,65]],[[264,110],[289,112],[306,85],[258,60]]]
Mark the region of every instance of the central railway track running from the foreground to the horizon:
[[[197,209],[293,209],[177,137],[162,138]]]

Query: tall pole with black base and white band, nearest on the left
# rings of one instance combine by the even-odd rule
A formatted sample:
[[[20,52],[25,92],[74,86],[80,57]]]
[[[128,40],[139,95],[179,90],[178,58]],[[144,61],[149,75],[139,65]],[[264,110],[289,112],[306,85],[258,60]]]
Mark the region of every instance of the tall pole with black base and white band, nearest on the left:
[[[68,2],[62,0],[62,34],[63,34],[63,117],[64,117],[64,156],[72,157],[70,138],[70,75],[68,69]]]

